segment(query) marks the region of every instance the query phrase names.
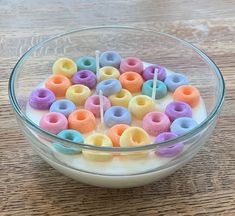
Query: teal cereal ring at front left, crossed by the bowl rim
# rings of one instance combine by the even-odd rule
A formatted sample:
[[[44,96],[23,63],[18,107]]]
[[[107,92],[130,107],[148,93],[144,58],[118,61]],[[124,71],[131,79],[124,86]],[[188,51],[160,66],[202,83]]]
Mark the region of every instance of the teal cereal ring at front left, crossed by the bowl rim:
[[[66,139],[68,141],[73,141],[76,143],[84,143],[83,136],[76,130],[63,130],[57,134],[58,137]],[[76,147],[69,147],[63,145],[63,143],[53,143],[53,147],[60,153],[63,154],[78,154],[81,150]]]

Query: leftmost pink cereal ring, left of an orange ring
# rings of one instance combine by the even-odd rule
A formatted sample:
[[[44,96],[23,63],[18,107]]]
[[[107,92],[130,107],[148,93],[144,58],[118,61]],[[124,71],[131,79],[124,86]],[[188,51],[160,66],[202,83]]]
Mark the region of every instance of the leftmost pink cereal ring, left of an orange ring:
[[[39,126],[50,133],[58,134],[68,128],[68,120],[61,113],[49,112],[42,116]]]

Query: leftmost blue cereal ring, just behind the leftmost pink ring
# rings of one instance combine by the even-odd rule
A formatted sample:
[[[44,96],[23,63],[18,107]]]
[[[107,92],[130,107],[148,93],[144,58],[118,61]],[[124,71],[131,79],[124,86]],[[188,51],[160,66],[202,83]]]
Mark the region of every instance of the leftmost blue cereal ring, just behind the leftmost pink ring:
[[[76,105],[67,99],[56,100],[50,107],[50,112],[59,112],[66,117],[74,110],[76,110]]]

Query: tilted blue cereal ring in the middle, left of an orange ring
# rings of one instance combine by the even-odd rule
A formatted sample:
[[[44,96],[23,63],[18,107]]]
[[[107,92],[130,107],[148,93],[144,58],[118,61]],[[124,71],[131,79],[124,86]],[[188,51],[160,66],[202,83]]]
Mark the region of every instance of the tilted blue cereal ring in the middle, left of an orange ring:
[[[103,80],[96,86],[96,91],[99,93],[99,91],[101,90],[103,92],[103,95],[106,97],[120,92],[121,89],[122,85],[120,81],[116,79]]]

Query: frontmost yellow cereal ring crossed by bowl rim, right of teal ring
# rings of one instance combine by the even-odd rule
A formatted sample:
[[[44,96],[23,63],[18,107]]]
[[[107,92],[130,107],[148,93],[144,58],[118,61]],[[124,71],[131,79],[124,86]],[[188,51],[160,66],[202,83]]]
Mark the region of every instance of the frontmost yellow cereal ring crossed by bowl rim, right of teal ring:
[[[106,147],[113,146],[111,139],[108,136],[101,133],[95,133],[88,136],[85,139],[85,143],[94,146],[106,146]],[[112,159],[112,153],[108,152],[83,149],[82,153],[84,157],[93,161],[106,161]]]

